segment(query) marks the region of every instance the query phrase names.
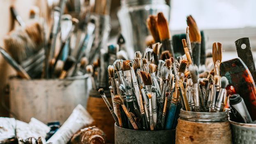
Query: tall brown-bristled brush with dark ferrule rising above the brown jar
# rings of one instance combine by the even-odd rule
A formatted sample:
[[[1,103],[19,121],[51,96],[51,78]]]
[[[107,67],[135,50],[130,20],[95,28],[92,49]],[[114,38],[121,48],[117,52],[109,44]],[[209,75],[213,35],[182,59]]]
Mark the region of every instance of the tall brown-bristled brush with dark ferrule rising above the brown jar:
[[[189,38],[191,41],[191,49],[193,56],[193,63],[197,66],[200,65],[200,55],[201,55],[201,34],[195,23],[195,20],[191,15],[187,16],[187,25],[190,28]],[[190,48],[188,48],[190,49]]]

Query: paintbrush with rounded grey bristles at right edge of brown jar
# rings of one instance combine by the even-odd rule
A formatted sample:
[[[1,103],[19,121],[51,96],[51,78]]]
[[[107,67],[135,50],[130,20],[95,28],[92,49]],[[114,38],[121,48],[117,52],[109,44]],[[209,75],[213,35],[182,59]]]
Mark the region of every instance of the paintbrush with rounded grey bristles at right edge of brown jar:
[[[221,77],[221,89],[215,105],[215,112],[223,111],[223,98],[226,86],[228,86],[228,79],[226,77]]]

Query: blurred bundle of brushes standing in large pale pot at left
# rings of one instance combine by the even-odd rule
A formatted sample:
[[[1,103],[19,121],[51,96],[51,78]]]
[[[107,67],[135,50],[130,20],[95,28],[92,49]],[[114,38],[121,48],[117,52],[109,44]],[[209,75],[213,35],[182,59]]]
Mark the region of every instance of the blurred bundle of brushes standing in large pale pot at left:
[[[87,4],[87,5],[86,5]],[[97,8],[93,13],[109,14],[110,1],[104,0],[95,3]],[[74,13],[74,17],[67,12]],[[7,62],[14,67],[21,78],[60,78],[84,75],[86,65],[92,63],[98,55],[102,45],[106,45],[108,31],[98,30],[100,22],[90,16],[88,2],[84,5],[80,1],[60,0],[58,6],[52,9],[52,24],[47,34],[47,25],[44,18],[39,17],[38,12],[30,10],[29,22],[24,22],[16,11],[11,7],[13,18],[21,27],[13,30],[4,39],[5,49],[0,52]],[[80,12],[80,13],[79,13]],[[106,24],[107,25],[107,24]],[[99,36],[100,33],[100,36]],[[94,46],[95,37],[101,37]],[[104,37],[104,38],[102,38]],[[103,42],[104,39],[105,41]],[[96,47],[97,50],[91,49]],[[92,54],[93,53],[93,54]]]

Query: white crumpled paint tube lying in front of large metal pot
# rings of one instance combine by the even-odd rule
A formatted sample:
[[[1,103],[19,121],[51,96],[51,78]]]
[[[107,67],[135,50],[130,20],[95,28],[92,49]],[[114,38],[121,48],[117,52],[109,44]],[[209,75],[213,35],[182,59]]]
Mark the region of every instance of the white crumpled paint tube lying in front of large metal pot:
[[[77,105],[61,128],[47,141],[53,144],[66,144],[75,132],[93,122],[91,115],[83,106]]]

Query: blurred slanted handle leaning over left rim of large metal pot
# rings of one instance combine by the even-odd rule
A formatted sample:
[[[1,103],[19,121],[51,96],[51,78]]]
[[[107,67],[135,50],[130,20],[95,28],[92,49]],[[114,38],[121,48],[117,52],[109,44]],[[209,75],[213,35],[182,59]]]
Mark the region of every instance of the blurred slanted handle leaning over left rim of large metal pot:
[[[20,77],[24,79],[30,79],[28,73],[21,67],[21,65],[16,63],[16,61],[2,47],[0,47],[0,53],[5,58],[5,60],[16,70]]]

